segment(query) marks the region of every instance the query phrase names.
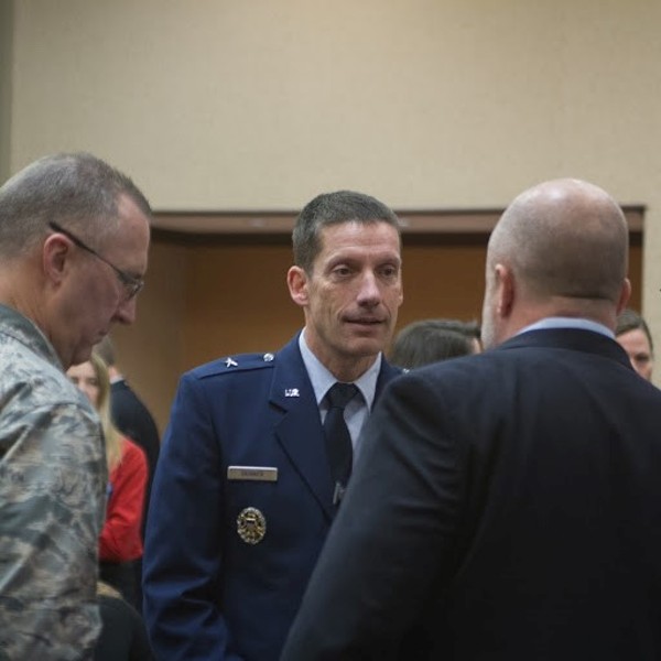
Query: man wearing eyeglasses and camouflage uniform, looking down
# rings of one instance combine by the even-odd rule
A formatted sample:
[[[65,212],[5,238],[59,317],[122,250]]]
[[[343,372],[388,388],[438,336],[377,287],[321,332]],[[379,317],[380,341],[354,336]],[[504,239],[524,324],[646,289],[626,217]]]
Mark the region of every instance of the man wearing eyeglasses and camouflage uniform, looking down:
[[[0,658],[91,658],[106,458],[64,375],[131,324],[149,203],[90,154],[46,156],[0,188]]]

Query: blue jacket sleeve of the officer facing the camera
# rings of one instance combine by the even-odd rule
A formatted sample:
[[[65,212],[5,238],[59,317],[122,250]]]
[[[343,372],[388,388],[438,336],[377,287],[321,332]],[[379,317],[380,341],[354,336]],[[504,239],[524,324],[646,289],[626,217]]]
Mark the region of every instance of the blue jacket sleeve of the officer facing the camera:
[[[163,440],[145,534],[143,614],[156,658],[238,659],[218,608],[220,464],[204,392],[185,376]]]

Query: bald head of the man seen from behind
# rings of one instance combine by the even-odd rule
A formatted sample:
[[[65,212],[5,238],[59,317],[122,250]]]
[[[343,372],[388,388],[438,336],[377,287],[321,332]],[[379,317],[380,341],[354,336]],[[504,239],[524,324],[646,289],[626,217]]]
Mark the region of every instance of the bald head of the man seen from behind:
[[[521,193],[487,250],[491,345],[545,316],[614,327],[629,293],[628,237],[619,205],[594,184],[563,178]]]

